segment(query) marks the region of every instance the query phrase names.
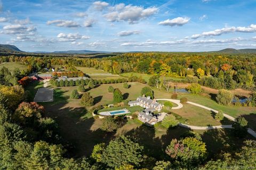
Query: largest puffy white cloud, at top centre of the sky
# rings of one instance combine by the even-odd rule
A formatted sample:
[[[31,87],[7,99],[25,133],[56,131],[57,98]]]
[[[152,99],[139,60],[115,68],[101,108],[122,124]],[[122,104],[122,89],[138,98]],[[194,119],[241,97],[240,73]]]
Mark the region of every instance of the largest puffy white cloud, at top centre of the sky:
[[[142,19],[146,19],[158,12],[157,7],[143,8],[141,6],[124,5],[123,3],[109,7],[105,18],[110,21],[127,21],[130,24],[137,23]]]

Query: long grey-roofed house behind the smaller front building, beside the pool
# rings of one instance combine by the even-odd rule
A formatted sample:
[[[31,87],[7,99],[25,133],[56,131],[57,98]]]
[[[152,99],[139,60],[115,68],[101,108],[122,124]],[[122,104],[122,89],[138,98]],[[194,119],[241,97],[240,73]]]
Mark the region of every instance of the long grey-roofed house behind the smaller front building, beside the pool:
[[[128,105],[130,106],[141,106],[143,108],[146,108],[145,111],[158,111],[160,112],[163,108],[163,105],[159,104],[155,99],[150,99],[150,96],[145,97],[143,95],[142,97],[138,97],[137,100],[129,101]]]

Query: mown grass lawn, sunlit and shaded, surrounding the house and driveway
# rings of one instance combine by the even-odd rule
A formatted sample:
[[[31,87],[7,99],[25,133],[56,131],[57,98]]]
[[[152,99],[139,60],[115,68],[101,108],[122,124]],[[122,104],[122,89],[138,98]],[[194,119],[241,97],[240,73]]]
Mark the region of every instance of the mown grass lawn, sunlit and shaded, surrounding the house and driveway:
[[[107,89],[109,86],[114,88],[119,88],[125,96],[126,100],[136,99],[140,95],[141,88],[147,86],[146,84],[141,84],[138,82],[132,82],[131,88],[124,89],[123,83],[117,84],[101,84],[93,89],[87,89],[95,100],[95,106],[97,105],[108,105],[113,101],[113,94],[108,93]],[[35,84],[35,88],[38,88],[41,84]],[[33,88],[29,88],[33,91]],[[74,155],[76,156],[89,156],[92,152],[93,146],[106,142],[108,143],[111,139],[116,138],[118,135],[132,135],[136,137],[139,143],[145,147],[145,150],[151,156],[159,157],[159,159],[164,157],[164,149],[170,144],[171,140],[174,138],[179,138],[184,132],[188,131],[186,128],[177,127],[174,129],[166,129],[161,123],[158,123],[153,128],[148,128],[142,125],[140,121],[126,120],[121,128],[117,129],[114,133],[106,133],[100,130],[102,119],[93,118],[91,109],[92,107],[83,107],[80,104],[80,99],[70,99],[70,93],[73,89],[77,87],[58,87],[54,89],[54,101],[51,103],[41,103],[45,106],[46,115],[54,118],[60,127],[60,133],[64,140],[73,143],[74,145]],[[35,91],[35,90],[34,90]],[[156,98],[170,98],[171,94],[154,89],[154,95]],[[178,97],[186,96],[189,101],[197,102],[199,104],[204,104],[206,101],[214,109],[218,109],[218,104],[215,101],[208,99],[206,97],[194,96],[190,94],[179,94]],[[199,100],[202,98],[201,100]],[[194,108],[193,108],[194,107]],[[209,106],[210,107],[210,106]],[[215,108],[217,107],[217,108]],[[233,107],[225,107],[226,111],[233,111]],[[237,107],[237,109],[247,109],[250,113],[253,111],[252,108],[247,107]],[[127,108],[129,109],[129,107]],[[255,109],[254,109],[255,111]],[[185,106],[174,112],[176,115],[180,116],[179,120],[191,125],[219,125],[228,124],[229,122],[218,122],[213,119],[211,112],[206,111],[196,106],[190,106],[185,104]],[[227,113],[228,114],[228,113]],[[201,133],[203,140],[206,142],[207,149],[210,154],[216,153],[221,148],[225,147],[228,143],[230,146],[240,146],[244,139],[235,139],[231,135],[230,130],[209,130],[209,131],[196,131]],[[252,139],[248,134],[245,139]]]

